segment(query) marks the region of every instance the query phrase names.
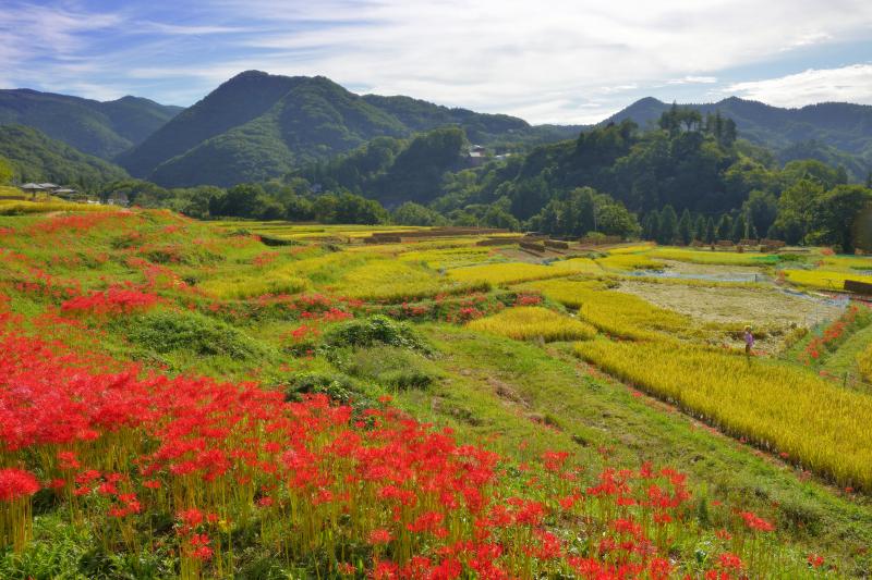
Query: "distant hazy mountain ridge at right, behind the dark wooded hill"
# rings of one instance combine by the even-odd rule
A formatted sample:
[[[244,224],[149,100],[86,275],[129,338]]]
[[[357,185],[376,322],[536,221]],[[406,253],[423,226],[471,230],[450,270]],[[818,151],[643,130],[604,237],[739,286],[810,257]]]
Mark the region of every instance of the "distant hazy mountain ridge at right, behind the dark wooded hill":
[[[630,119],[641,127],[656,124],[671,104],[653,97],[640,99],[603,121]],[[736,122],[739,136],[773,149],[779,161],[812,158],[845,165],[855,181],[872,170],[872,107],[848,102],[823,102],[800,109],[783,109],[730,97],[711,103],[679,104],[716,113]],[[800,157],[801,156],[801,157]]]

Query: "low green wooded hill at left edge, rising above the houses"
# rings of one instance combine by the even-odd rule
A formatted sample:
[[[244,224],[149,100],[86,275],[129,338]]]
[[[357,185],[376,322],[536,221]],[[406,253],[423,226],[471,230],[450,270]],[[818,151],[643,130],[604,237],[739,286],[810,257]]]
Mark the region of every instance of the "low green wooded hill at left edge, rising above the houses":
[[[24,125],[0,125],[0,157],[10,161],[21,182],[52,182],[90,189],[129,177],[118,165]]]

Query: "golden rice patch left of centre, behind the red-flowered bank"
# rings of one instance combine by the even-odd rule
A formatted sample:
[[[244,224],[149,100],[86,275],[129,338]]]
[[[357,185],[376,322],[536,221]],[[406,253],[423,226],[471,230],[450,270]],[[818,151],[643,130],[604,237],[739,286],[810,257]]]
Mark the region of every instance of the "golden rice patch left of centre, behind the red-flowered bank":
[[[332,291],[365,300],[404,300],[463,292],[472,284],[397,260],[372,260],[346,273]]]

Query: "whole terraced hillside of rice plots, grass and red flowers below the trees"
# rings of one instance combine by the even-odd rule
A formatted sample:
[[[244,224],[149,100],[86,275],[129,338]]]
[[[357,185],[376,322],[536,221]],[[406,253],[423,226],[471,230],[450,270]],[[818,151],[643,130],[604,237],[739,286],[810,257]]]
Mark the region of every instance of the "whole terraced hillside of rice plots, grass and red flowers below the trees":
[[[867,307],[803,291],[865,258],[48,207],[0,217],[2,578],[872,573]]]

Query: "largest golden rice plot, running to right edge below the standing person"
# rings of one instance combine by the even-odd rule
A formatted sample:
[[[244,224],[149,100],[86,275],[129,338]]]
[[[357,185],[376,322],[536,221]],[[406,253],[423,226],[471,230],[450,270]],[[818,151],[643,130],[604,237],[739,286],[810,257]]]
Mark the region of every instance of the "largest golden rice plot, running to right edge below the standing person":
[[[804,369],[677,343],[591,341],[576,353],[725,430],[872,490],[872,397]]]

